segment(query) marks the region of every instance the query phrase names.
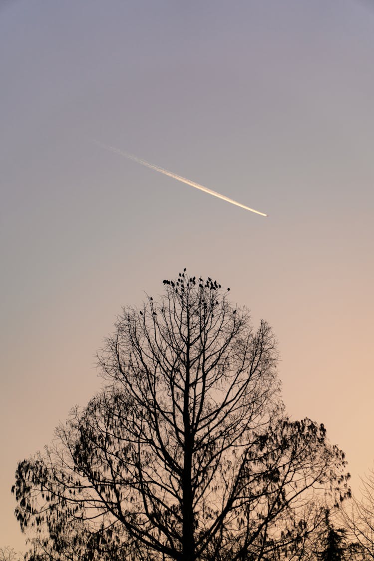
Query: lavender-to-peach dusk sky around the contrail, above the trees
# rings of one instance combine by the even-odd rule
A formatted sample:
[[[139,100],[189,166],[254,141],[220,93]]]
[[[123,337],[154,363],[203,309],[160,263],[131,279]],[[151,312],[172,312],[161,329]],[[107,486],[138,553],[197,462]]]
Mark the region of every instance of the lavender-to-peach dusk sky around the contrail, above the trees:
[[[0,547],[17,462],[100,388],[123,305],[185,266],[279,342],[293,419],[373,466],[374,7],[0,0]],[[96,139],[269,214],[264,218]]]

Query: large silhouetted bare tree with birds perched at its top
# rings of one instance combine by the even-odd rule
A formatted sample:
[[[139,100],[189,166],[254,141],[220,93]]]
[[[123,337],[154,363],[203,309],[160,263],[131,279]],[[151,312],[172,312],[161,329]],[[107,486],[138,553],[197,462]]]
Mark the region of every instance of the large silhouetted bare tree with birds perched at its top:
[[[20,462],[21,528],[56,559],[287,558],[317,498],[349,495],[344,454],[285,416],[265,321],[213,279],[164,286],[118,317],[103,391]]]

